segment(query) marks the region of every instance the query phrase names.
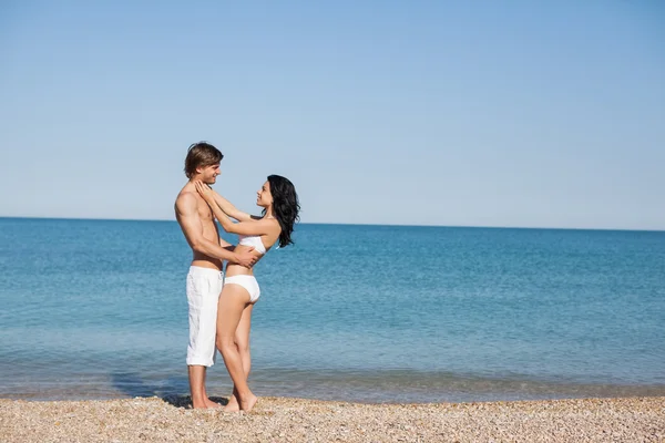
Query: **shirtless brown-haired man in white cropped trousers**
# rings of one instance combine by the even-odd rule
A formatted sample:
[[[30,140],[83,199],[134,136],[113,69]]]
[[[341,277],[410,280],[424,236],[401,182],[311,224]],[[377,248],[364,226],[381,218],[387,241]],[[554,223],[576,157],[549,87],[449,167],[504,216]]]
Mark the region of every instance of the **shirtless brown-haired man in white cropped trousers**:
[[[209,206],[196,192],[195,181],[208,185],[216,182],[224,155],[213,145],[201,142],[190,146],[185,174],[190,182],[175,200],[175,217],[194,253],[187,275],[190,305],[190,346],[187,369],[194,408],[219,408],[205,391],[206,369],[215,363],[217,302],[223,286],[223,260],[252,267],[256,262],[250,250],[236,254],[219,238]]]

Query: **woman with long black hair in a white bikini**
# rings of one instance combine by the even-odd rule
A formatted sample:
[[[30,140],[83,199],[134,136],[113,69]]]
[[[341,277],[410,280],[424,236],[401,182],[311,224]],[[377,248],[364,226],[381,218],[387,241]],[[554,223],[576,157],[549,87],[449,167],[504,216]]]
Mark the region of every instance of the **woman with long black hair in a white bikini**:
[[[279,175],[268,181],[257,193],[256,205],[263,207],[262,217],[250,216],[235,208],[211,187],[196,182],[196,190],[207,202],[213,214],[227,233],[239,236],[239,248],[252,249],[259,259],[278,243],[279,247],[293,244],[291,233],[298,220],[300,205],[293,183]],[[231,218],[238,223],[233,223]],[[216,346],[233,380],[233,394],[225,411],[250,411],[257,398],[247,385],[252,367],[249,356],[249,328],[252,309],[260,289],[252,268],[227,262],[224,288],[217,306]]]

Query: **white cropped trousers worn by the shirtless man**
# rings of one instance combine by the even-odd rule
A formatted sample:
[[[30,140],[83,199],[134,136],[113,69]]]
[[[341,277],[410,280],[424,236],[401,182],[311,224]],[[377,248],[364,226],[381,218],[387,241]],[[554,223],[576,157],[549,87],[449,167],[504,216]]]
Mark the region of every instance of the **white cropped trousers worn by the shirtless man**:
[[[215,364],[215,334],[217,330],[217,302],[224,275],[209,268],[191,266],[187,274],[187,302],[190,305],[190,346],[187,365]]]

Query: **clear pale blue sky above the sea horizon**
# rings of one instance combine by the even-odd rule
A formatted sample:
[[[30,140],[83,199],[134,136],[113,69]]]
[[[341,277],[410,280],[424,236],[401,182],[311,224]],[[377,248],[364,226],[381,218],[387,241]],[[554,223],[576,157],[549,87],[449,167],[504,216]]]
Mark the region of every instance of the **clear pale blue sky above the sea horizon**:
[[[174,219],[187,146],[304,223],[665,229],[665,6],[6,1],[0,216]]]

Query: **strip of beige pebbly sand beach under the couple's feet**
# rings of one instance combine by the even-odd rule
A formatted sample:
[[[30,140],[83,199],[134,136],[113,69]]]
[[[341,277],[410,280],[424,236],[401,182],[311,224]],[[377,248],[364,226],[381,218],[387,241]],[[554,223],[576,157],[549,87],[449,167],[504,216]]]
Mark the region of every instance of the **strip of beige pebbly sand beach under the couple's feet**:
[[[665,396],[439,404],[262,398],[248,414],[187,406],[185,398],[0,400],[0,441],[665,441]]]

